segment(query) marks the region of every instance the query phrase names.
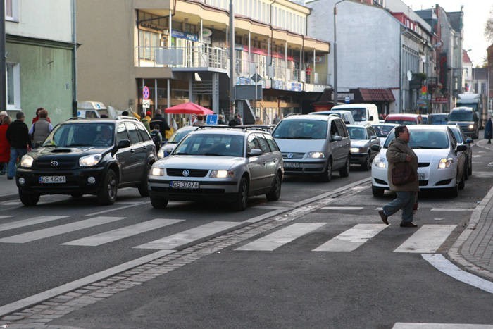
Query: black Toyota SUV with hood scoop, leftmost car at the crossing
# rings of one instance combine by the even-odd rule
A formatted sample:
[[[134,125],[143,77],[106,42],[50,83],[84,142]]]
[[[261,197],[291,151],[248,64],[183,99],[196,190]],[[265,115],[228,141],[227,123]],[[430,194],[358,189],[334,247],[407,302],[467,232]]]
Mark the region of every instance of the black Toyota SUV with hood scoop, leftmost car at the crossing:
[[[147,173],[156,159],[149,132],[135,118],[72,118],[23,156],[15,181],[25,206],[42,194],[95,194],[99,204],[113,204],[119,187],[149,195]]]

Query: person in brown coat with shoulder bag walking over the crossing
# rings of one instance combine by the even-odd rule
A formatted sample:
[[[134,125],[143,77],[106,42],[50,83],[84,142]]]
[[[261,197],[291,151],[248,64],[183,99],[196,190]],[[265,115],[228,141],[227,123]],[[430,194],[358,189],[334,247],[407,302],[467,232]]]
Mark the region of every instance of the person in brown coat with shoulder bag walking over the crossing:
[[[401,228],[416,228],[413,223],[413,207],[419,191],[418,156],[409,147],[410,133],[405,125],[395,128],[395,139],[387,149],[389,168],[387,178],[390,190],[397,197],[378,211],[382,222],[389,225],[387,218],[402,209]]]

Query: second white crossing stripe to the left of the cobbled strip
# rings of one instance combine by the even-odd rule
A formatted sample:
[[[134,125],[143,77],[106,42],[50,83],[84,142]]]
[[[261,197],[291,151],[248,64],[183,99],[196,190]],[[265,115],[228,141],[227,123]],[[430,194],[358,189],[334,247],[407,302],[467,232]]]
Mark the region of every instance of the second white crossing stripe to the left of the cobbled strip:
[[[83,237],[82,239],[73,240],[62,244],[68,246],[95,247],[108,242],[124,239],[125,237],[131,237],[132,235],[148,232],[150,230],[156,230],[157,228],[163,228],[165,226],[173,225],[175,223],[180,223],[182,221],[184,220],[156,218],[151,221],[145,221],[143,223],[125,226],[125,228],[118,228],[116,230],[111,230],[108,232],[92,235],[90,237]]]

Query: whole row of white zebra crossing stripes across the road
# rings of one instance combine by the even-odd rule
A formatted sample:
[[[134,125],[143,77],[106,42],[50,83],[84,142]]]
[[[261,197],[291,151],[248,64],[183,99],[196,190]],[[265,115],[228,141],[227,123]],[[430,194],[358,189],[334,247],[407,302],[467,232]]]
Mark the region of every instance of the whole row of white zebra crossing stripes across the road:
[[[70,216],[35,216],[19,221],[11,221],[0,224],[0,232],[18,228],[29,228],[31,225],[40,223],[49,223],[68,218]],[[1,216],[0,219],[9,219],[10,216]],[[26,244],[29,242],[46,239],[63,235],[65,233],[85,230],[87,228],[96,228],[107,223],[119,223],[126,217],[123,216],[95,216],[81,221],[53,225],[48,228],[30,230],[20,234],[10,235],[0,238],[0,243]],[[122,228],[112,229],[105,232],[99,232],[95,235],[81,237],[76,240],[61,242],[65,246],[96,247],[110,242],[123,240],[145,232],[150,232],[160,228],[182,223],[184,219],[173,218],[154,218],[141,223],[126,225]],[[57,223],[58,224],[58,223]],[[186,244],[203,241],[204,239],[216,236],[221,232],[233,230],[236,227],[244,225],[243,222],[232,221],[213,221],[193,228],[188,228],[181,232],[161,237],[157,240],[151,240],[144,244],[130,246],[136,249],[157,249],[173,250],[178,249]],[[239,247],[234,248],[236,252],[273,252],[281,249],[287,244],[304,239],[314,232],[327,230],[330,223],[291,223],[279,228],[273,229],[272,232],[258,238],[253,238]],[[354,250],[368,243],[370,240],[377,239],[379,234],[391,227],[382,223],[358,223],[347,228],[338,235],[321,243],[313,252],[353,252]],[[455,230],[457,225],[420,225],[417,230],[409,230],[411,235],[399,245],[393,252],[396,253],[435,253],[447,240],[447,237]],[[154,237],[155,238],[155,237]]]

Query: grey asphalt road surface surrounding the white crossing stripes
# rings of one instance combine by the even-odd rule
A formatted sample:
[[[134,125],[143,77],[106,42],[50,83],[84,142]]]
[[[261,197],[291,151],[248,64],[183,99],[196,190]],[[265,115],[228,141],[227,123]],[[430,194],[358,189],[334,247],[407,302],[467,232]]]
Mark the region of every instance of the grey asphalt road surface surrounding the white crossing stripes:
[[[470,211],[492,185],[493,168],[487,164],[493,161],[493,155],[478,147],[474,151],[473,176],[457,198],[449,199],[436,192],[420,193],[420,209],[415,219],[420,227],[454,225],[435,251],[437,254],[447,251],[468,222]],[[156,210],[132,189],[120,191],[117,203],[105,207],[94,206],[93,197],[42,197],[35,208],[22,207],[15,201],[0,203],[1,214],[14,215],[15,221],[36,216],[67,216],[0,231],[0,242],[33,231],[50,235],[40,238],[42,234],[37,233],[38,240],[0,243],[0,305],[156,252],[136,246],[212,222],[243,223],[245,228],[258,226],[263,223],[263,216],[272,213],[277,217],[265,229],[258,226],[251,235],[237,235],[234,243],[224,242],[215,252],[70,312],[50,324],[82,328],[390,328],[397,322],[493,324],[491,294],[437,271],[420,253],[395,252],[416,232],[416,229],[399,228],[397,217],[391,217],[392,225],[353,251],[313,250],[355,225],[381,224],[375,209],[392,199],[392,194],[373,197],[369,181],[349,186],[369,175],[369,171],[355,168],[349,178],[335,174],[328,183],[316,178],[287,178],[280,201],[266,202],[263,197],[255,197],[244,212],[230,211],[219,202],[170,202],[167,209]],[[330,194],[337,189],[340,192]],[[324,194],[327,196],[323,197]],[[344,208],[347,206],[354,208]],[[56,226],[75,225],[97,216],[121,219],[53,235]],[[67,244],[156,218],[179,221],[98,246]],[[249,220],[251,223],[245,223]],[[0,219],[0,225],[11,222],[12,218]],[[301,225],[299,228],[314,225],[314,229],[272,250],[247,247],[260,237],[295,224]],[[45,228],[48,230],[39,231]],[[222,233],[213,236],[220,237]],[[206,243],[208,238],[176,249],[185,253],[194,244]],[[214,244],[218,243],[211,242],[211,246]]]

